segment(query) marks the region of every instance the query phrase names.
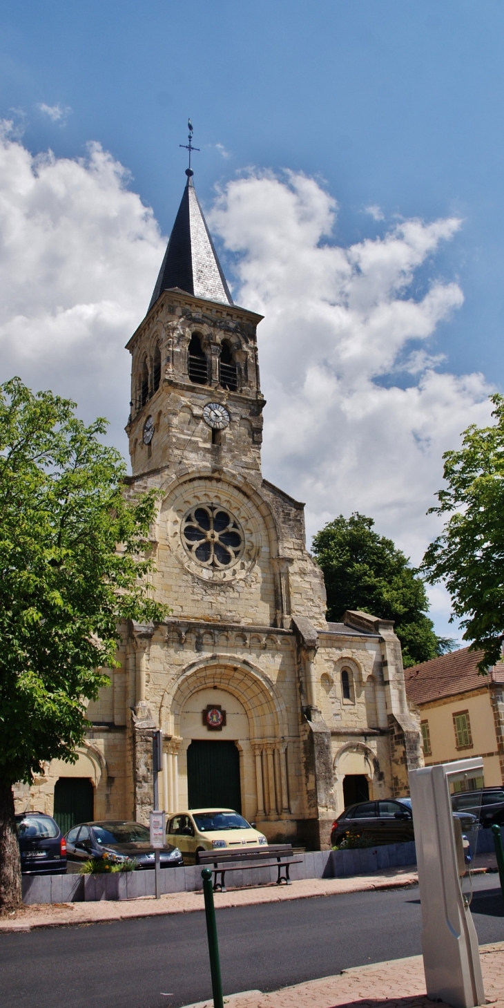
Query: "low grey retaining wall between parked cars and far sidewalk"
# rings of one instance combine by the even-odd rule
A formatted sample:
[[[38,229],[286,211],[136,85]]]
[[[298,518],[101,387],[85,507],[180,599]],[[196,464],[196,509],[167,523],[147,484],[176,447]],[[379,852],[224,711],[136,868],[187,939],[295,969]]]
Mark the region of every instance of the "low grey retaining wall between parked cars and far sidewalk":
[[[503,835],[504,840],[504,835]],[[493,852],[491,830],[478,835],[478,854]],[[387,868],[416,864],[414,842],[367,847],[354,851],[313,851],[297,855],[299,863],[290,866],[290,878],[348,878],[374,875]],[[195,892],[202,888],[199,865],[161,870],[161,893]],[[246,868],[228,875],[231,886],[267,885],[275,882],[276,868]],[[153,871],[118,872],[114,875],[23,875],[24,903],[72,903],[97,899],[138,899],[155,894]]]

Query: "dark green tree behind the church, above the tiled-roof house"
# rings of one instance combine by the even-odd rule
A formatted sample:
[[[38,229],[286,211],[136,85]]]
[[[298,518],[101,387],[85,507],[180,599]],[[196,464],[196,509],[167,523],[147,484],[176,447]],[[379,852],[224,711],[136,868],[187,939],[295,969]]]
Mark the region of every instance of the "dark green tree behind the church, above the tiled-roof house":
[[[312,550],[324,571],[328,619],[337,622],[346,609],[393,620],[404,665],[428,661],[453,642],[437,637],[425,615],[428,601],[418,572],[392,539],[373,531],[374,521],[355,512],[342,514],[313,537]]]

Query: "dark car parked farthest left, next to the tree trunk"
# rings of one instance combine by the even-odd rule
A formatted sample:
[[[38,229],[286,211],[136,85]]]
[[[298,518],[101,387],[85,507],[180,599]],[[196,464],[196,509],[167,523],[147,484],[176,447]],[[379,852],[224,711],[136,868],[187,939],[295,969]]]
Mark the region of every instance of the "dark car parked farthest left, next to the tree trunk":
[[[67,871],[67,842],[51,815],[16,815],[17,841],[23,875],[60,875]]]

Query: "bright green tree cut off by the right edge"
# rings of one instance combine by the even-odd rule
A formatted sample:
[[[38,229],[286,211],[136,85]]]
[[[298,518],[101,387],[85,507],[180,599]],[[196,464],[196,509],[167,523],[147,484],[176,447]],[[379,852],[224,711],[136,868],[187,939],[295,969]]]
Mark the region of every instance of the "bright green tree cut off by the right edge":
[[[447,486],[430,511],[451,517],[422,564],[430,584],[445,582],[464,640],[484,652],[481,672],[500,660],[504,634],[504,396],[490,398],[495,425],[471,424],[443,456]]]

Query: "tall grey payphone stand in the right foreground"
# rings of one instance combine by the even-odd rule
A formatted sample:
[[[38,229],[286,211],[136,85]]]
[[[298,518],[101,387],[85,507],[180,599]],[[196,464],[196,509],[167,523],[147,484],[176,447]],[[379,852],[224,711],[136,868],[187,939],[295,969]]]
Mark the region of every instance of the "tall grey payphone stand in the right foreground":
[[[427,998],[454,1008],[485,1004],[478,936],[471,915],[471,868],[479,822],[467,829],[452,812],[451,787],[483,778],[483,760],[410,771],[409,786],[421,903]],[[479,816],[478,816],[479,818]]]

